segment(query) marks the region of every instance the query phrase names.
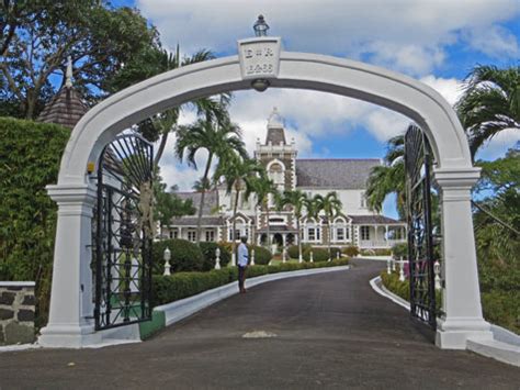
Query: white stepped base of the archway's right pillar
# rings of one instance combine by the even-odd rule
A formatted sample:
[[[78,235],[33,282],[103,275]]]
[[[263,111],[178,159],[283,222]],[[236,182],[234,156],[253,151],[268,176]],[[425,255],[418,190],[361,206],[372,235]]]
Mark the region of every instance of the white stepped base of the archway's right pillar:
[[[483,319],[438,319],[436,345],[441,349],[466,349],[467,341],[491,341],[489,323]]]

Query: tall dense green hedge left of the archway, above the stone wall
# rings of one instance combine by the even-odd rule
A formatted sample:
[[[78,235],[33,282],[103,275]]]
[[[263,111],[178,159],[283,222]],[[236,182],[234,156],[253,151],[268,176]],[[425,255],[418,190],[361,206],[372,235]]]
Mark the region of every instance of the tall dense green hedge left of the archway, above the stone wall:
[[[34,280],[36,315],[46,322],[53,271],[55,183],[70,131],[0,118],[0,280]]]

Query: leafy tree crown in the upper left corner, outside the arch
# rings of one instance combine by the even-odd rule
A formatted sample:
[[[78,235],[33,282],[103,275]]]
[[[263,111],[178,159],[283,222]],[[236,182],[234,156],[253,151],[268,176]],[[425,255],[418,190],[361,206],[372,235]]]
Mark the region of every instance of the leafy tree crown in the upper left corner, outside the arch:
[[[3,1],[1,96],[12,114],[35,118],[53,94],[49,78],[65,83],[67,56],[76,87],[88,100],[103,97],[108,81],[145,47],[158,46],[158,33],[136,9],[97,0]],[[3,104],[0,104],[3,107]],[[18,110],[13,112],[13,108]]]

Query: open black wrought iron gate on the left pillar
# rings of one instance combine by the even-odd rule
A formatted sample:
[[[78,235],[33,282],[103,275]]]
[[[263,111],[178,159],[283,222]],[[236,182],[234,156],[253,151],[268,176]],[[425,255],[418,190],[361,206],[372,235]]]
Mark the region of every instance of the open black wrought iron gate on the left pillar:
[[[154,148],[138,134],[109,144],[93,219],[94,320],[103,330],[151,319]]]

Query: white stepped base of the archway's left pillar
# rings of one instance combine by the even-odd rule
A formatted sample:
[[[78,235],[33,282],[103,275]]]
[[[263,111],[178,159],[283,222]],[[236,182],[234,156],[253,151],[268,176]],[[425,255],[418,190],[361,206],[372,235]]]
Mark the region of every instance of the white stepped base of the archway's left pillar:
[[[83,348],[103,342],[93,325],[47,325],[42,330],[38,344],[50,348]]]

